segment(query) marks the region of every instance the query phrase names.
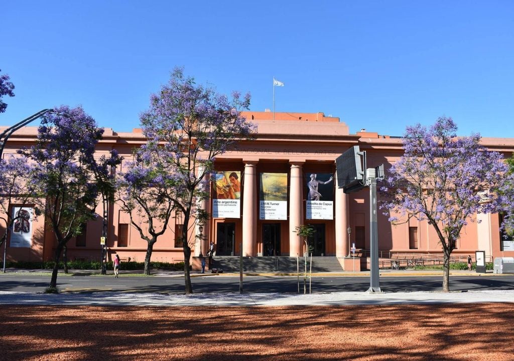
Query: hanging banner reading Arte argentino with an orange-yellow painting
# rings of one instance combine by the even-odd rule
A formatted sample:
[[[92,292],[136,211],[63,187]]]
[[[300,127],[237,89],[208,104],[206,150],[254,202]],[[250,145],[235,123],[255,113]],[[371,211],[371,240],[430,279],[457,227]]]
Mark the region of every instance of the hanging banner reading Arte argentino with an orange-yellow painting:
[[[212,217],[241,217],[241,172],[219,171],[214,175],[216,194],[212,199]]]

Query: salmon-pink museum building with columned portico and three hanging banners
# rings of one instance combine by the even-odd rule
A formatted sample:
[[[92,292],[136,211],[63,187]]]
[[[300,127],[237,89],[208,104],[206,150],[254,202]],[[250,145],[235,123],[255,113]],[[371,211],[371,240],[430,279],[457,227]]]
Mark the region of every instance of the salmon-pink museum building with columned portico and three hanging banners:
[[[296,227],[310,224],[314,236],[309,239],[313,256],[344,259],[352,248],[362,268],[368,267],[370,250],[370,194],[368,188],[345,194],[337,184],[336,158],[353,146],[366,152],[366,167],[384,164],[387,169],[402,155],[401,137],[378,135],[361,129],[350,134],[339,118],[319,113],[243,112],[258,126],[255,140],[242,141],[233,150],[216,158],[216,173],[211,177],[211,197],[201,203],[209,221],[191,227],[188,235],[194,243],[194,256],[206,255],[211,241],[216,256],[248,257],[302,256],[304,242]],[[4,127],[5,128],[5,127]],[[34,143],[37,127],[14,132],[7,142],[4,157]],[[133,160],[132,150],[145,143],[140,129],[116,132],[106,128],[97,145],[98,156],[116,149],[124,161]],[[514,139],[483,138],[482,144],[508,158]],[[121,168],[120,168],[121,169]],[[214,178],[214,179],[212,179]],[[379,195],[380,199],[380,195]],[[101,208],[101,205],[99,205]],[[102,209],[98,214],[103,214]],[[30,218],[28,232],[10,232],[7,259],[50,260],[56,240],[43,217],[33,218],[30,205],[24,207]],[[12,212],[19,212],[13,206]],[[514,256],[514,241],[500,234],[498,214],[478,215],[478,222],[468,223],[457,241],[453,256],[467,257],[485,251],[486,260]],[[154,245],[152,260],[183,260],[180,243],[182,218],[173,217],[164,235]],[[84,233],[67,245],[68,259],[100,259],[103,219],[89,221]],[[142,262],[146,241],[131,226],[130,217],[114,203],[109,206],[106,246],[108,259],[118,254],[124,260]],[[190,222],[190,224],[195,224]],[[200,232],[201,231],[201,232]],[[395,256],[442,254],[438,237],[426,221],[411,219],[392,225],[378,212],[378,248],[384,259]]]

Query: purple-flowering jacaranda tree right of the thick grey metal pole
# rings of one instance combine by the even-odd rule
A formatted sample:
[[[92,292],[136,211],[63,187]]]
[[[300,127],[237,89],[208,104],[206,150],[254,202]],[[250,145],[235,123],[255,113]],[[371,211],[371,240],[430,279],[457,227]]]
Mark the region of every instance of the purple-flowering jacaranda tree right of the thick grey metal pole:
[[[381,191],[393,223],[409,218],[427,220],[443,248],[443,291],[449,291],[450,255],[456,240],[476,214],[502,211],[512,198],[498,192],[506,182],[502,155],[480,144],[481,137],[456,137],[451,118],[439,118],[427,129],[408,127],[403,137],[405,153],[384,179]]]

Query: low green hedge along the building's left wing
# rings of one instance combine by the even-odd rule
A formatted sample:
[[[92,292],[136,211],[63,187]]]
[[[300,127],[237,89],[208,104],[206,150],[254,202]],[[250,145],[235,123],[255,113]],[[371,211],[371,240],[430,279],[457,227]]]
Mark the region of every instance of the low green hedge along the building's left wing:
[[[68,261],[68,269],[70,270],[100,270],[102,263],[100,261]],[[6,267],[28,269],[28,270],[52,270],[53,261],[45,262],[7,262]],[[170,271],[182,271],[184,269],[184,262],[167,263],[167,262],[150,262],[150,267],[153,269],[163,269]],[[59,269],[64,269],[64,262],[59,262]],[[107,269],[113,269],[113,262],[107,262]],[[121,270],[144,270],[144,262],[121,262]]]

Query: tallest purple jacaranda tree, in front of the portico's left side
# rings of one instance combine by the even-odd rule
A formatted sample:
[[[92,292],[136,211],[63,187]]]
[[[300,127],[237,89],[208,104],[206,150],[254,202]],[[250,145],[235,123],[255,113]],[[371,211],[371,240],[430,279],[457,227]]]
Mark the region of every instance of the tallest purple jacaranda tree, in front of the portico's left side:
[[[240,112],[249,104],[249,94],[241,97],[234,92],[229,100],[225,95],[197,85],[177,68],[168,84],[151,96],[150,109],[141,115],[148,143],[136,164],[141,168],[135,166],[124,179],[127,182],[137,179],[142,169],[149,167],[145,172],[152,173],[158,184],[150,192],[166,188],[166,192],[155,196],[155,203],[162,203],[166,209],[173,208],[183,219],[186,294],[193,292],[189,273],[191,248],[195,242],[194,237],[188,236],[193,226],[191,218],[204,222],[208,217],[197,205],[208,196],[206,175],[214,171],[214,158],[236,142],[251,138],[255,128]]]

